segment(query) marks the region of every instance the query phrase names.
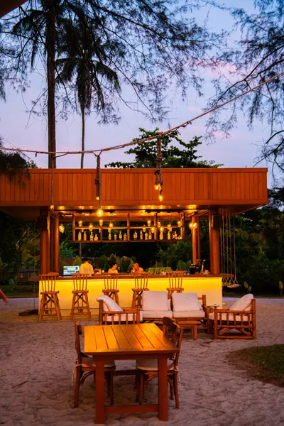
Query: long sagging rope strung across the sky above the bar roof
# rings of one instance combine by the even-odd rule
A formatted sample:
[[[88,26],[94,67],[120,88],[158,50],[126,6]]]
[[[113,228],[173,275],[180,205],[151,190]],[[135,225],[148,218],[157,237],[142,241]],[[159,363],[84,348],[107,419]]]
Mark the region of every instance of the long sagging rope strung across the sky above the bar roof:
[[[201,117],[210,114],[214,111],[216,111],[217,109],[220,109],[222,107],[224,107],[227,104],[230,104],[231,102],[236,101],[236,99],[239,99],[243,96],[245,96],[246,94],[249,94],[250,92],[255,91],[256,89],[259,89],[260,87],[262,87],[264,84],[268,84],[269,82],[272,82],[273,80],[275,80],[276,78],[281,77],[282,75],[284,75],[284,71],[280,72],[277,75],[274,75],[273,77],[271,77],[268,80],[263,81],[261,84],[258,84],[255,87],[252,87],[249,90],[246,90],[246,92],[243,92],[241,94],[238,94],[236,97],[229,99],[229,101],[223,102],[222,104],[217,105],[216,107],[212,108],[212,109],[208,109],[207,111],[204,111],[202,114],[199,114],[198,116],[195,116],[193,119],[187,120],[185,121],[185,123],[182,124],[178,124],[178,126],[173,127],[172,129],[169,129],[167,131],[163,131],[158,133],[158,135],[155,136],[148,136],[148,138],[143,138],[143,139],[139,139],[138,141],[132,141],[129,143],[123,143],[121,145],[116,145],[116,146],[109,146],[108,148],[100,148],[100,149],[95,149],[95,150],[91,150],[91,151],[34,151],[34,150],[30,150],[30,149],[18,149],[18,148],[5,148],[5,147],[1,147],[0,149],[2,151],[16,151],[18,153],[35,153],[35,155],[38,154],[47,154],[47,155],[56,155],[56,154],[62,154],[62,155],[69,155],[69,154],[94,154],[97,152],[106,152],[106,151],[111,151],[114,149],[121,149],[121,148],[126,148],[128,146],[131,145],[138,145],[139,143],[143,143],[143,142],[147,142],[147,141],[153,141],[153,139],[156,138],[161,138],[165,135],[168,135],[169,133],[172,133],[173,131],[177,131],[178,129],[180,129],[181,127],[185,128],[186,126],[188,126],[188,124],[192,124],[192,121],[195,121],[197,119],[200,119]]]

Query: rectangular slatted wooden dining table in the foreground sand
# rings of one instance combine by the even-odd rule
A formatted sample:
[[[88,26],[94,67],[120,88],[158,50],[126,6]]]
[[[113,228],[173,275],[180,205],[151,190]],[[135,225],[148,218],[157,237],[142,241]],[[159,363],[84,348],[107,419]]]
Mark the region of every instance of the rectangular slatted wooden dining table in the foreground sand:
[[[177,347],[163,336],[155,324],[93,325],[84,327],[84,353],[96,361],[96,423],[104,423],[108,413],[158,412],[168,420],[167,359]],[[114,359],[158,359],[158,404],[104,405],[104,363]]]

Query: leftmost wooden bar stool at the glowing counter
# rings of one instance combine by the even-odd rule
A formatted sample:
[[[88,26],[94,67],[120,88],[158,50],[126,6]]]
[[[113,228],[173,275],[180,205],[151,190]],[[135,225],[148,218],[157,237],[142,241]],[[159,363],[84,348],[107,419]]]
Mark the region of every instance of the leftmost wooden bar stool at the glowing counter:
[[[44,317],[56,317],[58,321],[61,320],[60,305],[58,300],[59,291],[55,290],[55,282],[58,273],[50,272],[44,275],[39,275],[43,291],[40,292],[40,312],[38,321],[43,320]]]

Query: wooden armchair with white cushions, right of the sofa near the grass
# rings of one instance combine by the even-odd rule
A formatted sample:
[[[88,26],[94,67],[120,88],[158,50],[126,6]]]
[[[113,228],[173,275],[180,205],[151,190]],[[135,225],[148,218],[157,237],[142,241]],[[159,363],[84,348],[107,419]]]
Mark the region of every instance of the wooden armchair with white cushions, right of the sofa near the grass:
[[[256,339],[256,300],[251,298],[243,309],[234,305],[229,309],[208,307],[208,331],[214,333],[214,339]]]

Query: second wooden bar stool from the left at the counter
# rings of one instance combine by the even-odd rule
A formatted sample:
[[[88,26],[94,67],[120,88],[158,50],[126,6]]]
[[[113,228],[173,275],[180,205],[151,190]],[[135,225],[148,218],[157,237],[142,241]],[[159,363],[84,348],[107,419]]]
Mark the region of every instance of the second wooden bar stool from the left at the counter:
[[[80,273],[72,273],[74,290],[72,290],[72,307],[71,307],[71,320],[74,315],[87,314],[91,320],[91,311],[89,310],[89,299],[87,290],[88,275]]]

